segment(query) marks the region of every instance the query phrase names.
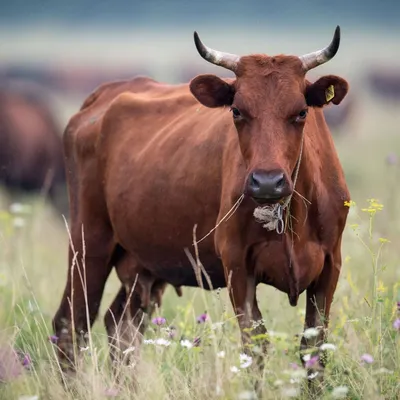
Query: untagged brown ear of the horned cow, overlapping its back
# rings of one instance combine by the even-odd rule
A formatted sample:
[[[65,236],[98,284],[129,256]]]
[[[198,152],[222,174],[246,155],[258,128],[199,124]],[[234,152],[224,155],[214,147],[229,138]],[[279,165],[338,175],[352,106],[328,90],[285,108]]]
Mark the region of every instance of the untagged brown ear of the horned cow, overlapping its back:
[[[193,96],[206,107],[222,107],[231,105],[235,90],[215,75],[199,75],[190,82]]]

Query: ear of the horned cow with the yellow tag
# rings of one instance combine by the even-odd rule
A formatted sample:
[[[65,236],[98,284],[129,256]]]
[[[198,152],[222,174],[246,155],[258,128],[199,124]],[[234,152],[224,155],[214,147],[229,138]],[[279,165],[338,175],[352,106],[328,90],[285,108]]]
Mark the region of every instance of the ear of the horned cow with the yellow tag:
[[[346,97],[349,84],[336,75],[326,75],[306,88],[306,101],[310,107],[323,107],[332,102],[340,104]]]

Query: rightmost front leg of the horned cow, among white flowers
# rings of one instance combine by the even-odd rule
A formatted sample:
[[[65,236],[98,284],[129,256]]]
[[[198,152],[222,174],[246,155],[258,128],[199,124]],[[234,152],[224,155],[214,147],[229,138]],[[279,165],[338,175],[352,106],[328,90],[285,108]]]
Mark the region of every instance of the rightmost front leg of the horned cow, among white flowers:
[[[326,340],[329,313],[340,274],[340,252],[338,260],[328,255],[318,280],[307,289],[306,316],[301,339],[301,361],[307,368],[310,396],[318,396],[321,390],[326,354],[320,346]]]

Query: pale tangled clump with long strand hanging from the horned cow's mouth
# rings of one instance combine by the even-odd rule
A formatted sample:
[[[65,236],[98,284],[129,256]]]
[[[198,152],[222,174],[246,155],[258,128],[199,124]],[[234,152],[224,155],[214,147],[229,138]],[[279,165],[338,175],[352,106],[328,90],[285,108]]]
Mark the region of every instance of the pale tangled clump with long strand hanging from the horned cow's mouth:
[[[294,190],[296,188],[297,179],[299,177],[300,171],[300,164],[303,158],[303,148],[304,148],[304,130],[301,135],[301,142],[300,142],[300,153],[297,159],[296,165],[294,167],[293,172],[293,192],[290,194],[283,204],[276,203],[274,205],[265,205],[257,207],[254,210],[254,218],[259,223],[264,223],[263,228],[269,231],[276,231],[279,235],[281,235],[285,231],[285,226],[287,225],[288,214],[286,215],[286,223],[283,220],[283,212],[290,206],[290,202],[293,197]]]

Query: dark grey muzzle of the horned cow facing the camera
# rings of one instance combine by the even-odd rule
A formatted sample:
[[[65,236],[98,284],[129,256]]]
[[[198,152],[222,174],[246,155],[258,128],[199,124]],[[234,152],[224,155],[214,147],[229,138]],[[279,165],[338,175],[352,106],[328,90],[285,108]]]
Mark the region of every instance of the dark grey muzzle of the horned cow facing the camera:
[[[293,192],[292,183],[284,171],[275,169],[266,171],[254,170],[250,173],[245,194],[252,197],[258,204],[274,204]]]

